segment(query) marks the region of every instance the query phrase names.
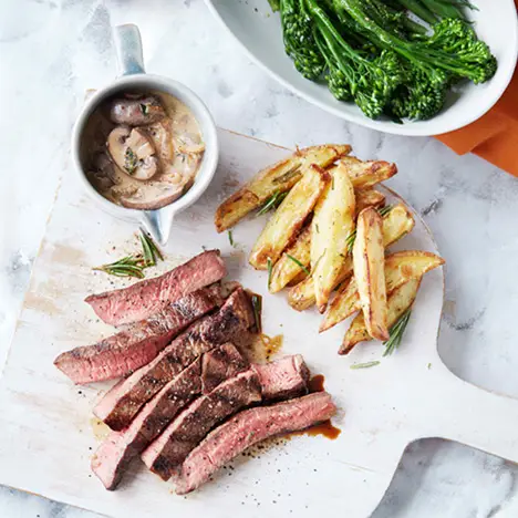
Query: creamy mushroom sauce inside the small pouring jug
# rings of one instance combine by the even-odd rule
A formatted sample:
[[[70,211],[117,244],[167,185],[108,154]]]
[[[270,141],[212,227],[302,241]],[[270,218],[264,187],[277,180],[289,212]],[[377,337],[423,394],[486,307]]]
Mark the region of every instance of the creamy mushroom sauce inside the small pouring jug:
[[[193,185],[205,145],[193,112],[162,92],[121,93],[92,114],[82,160],[106,199],[151,210],[183,196]]]

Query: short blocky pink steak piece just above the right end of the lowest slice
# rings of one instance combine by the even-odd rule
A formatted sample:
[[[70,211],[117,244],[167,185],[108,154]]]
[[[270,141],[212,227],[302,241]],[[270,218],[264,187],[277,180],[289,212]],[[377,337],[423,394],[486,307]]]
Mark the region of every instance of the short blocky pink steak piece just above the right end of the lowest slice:
[[[288,400],[308,393],[310,371],[300,354],[255,364],[252,369],[259,376],[265,400]]]

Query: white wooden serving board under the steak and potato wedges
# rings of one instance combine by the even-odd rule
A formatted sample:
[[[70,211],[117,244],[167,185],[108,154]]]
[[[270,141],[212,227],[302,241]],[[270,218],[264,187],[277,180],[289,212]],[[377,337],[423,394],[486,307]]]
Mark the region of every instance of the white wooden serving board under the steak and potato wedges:
[[[325,387],[340,408],[333,422],[341,435],[335,441],[298,436],[270,445],[256,458],[238,458],[234,470],[222,470],[186,498],[172,494],[170,485],[138,463],[117,491],[104,490],[90,473],[99,441],[91,410],[107,385],[74,386],[52,362],[60,352],[111,332],[83,298],[111,288],[111,278],[94,274],[91,267],[134,250],[135,228],[99,211],[68,170],[0,379],[0,484],[110,516],[314,517],[340,510],[348,518],[365,518],[385,493],[405,447],[417,438],[445,437],[518,462],[518,403],[456,379],[437,354],[443,272],[425,277],[401,349],[375,367],[351,370],[352,363],[379,360],[382,346],[363,344],[339,356],[345,325],[319,335],[315,312],[297,313],[284,294],[267,293],[267,274],[247,263],[263,218],[234,230],[236,248],[213,226],[218,203],[287,151],[230,132],[219,136],[215,180],[178,217],[166,250],[173,259],[162,269],[203,246],[220,248],[230,277],[265,296],[265,331],[284,335],[281,353],[300,352],[313,373],[325,375]],[[397,248],[436,252],[428,229],[417,215],[415,219],[415,230]]]

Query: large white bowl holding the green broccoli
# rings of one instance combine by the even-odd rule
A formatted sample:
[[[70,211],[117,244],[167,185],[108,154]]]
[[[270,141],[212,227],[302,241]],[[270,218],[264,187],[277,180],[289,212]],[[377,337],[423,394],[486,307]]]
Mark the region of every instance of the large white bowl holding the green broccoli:
[[[345,118],[385,133],[397,135],[438,135],[452,132],[481,117],[501,96],[511,80],[518,53],[518,22],[512,0],[472,0],[475,30],[498,60],[498,71],[485,84],[468,83],[450,93],[447,105],[429,121],[396,124],[372,121],[352,103],[336,101],[325,85],[305,80],[286,55],[278,13],[268,0],[230,2],[206,0],[214,14],[234,34],[248,54],[287,89],[310,103]]]

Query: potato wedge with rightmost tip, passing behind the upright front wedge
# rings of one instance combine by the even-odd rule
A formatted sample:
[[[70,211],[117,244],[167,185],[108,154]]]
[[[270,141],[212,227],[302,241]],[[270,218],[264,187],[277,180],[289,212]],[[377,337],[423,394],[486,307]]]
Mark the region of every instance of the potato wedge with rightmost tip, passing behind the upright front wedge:
[[[422,250],[406,250],[391,253],[385,257],[386,293],[394,290],[411,279],[421,279],[427,271],[444,265],[444,259]],[[361,309],[354,277],[343,287],[329,307],[324,320],[320,324],[319,332],[323,332],[351,317]]]

